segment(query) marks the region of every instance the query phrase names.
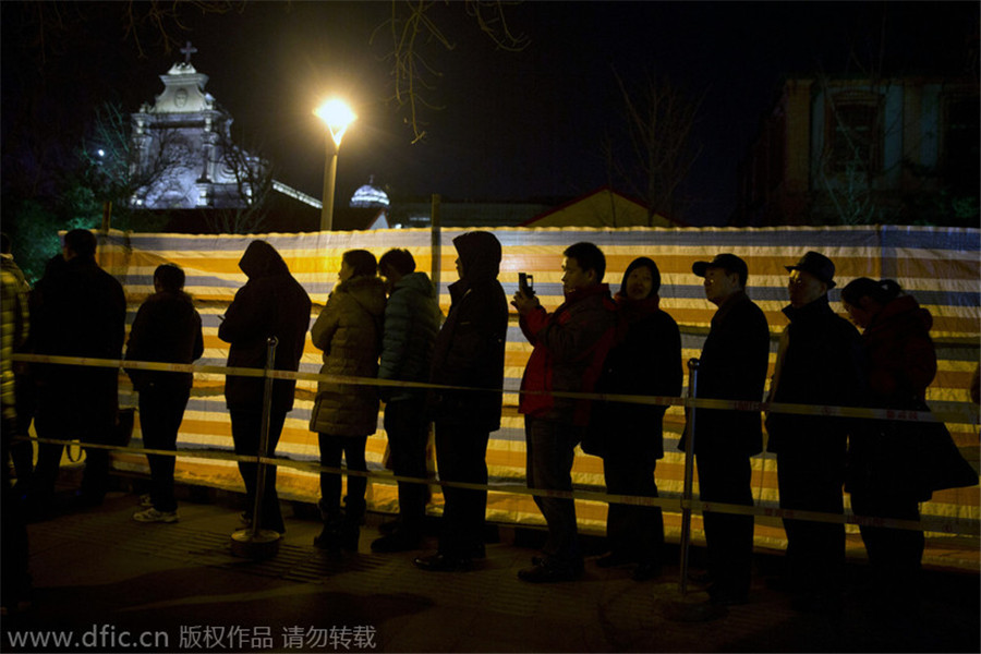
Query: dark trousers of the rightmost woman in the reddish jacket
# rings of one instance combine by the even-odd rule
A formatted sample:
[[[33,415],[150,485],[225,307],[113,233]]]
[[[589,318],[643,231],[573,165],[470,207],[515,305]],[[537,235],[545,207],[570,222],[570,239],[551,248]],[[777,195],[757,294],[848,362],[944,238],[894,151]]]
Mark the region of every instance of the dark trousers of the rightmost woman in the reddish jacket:
[[[920,508],[916,499],[897,497],[888,491],[852,493],[851,510],[857,516],[869,518],[920,520]],[[859,529],[872,568],[873,591],[891,609],[899,607],[915,610],[923,559],[923,532],[864,524]]]

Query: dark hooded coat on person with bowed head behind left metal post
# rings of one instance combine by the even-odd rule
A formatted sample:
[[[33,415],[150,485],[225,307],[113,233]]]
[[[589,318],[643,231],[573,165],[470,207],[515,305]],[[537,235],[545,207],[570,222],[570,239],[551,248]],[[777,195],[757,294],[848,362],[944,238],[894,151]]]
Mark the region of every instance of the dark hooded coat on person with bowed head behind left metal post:
[[[276,252],[265,241],[253,241],[245,249],[239,268],[249,278],[225,313],[218,338],[231,343],[229,367],[266,367],[266,341],[276,337],[275,367],[296,371],[310,328],[310,296]],[[263,377],[237,377],[225,380],[225,399],[230,410],[261,413]],[[272,410],[293,408],[294,379],[272,383]]]

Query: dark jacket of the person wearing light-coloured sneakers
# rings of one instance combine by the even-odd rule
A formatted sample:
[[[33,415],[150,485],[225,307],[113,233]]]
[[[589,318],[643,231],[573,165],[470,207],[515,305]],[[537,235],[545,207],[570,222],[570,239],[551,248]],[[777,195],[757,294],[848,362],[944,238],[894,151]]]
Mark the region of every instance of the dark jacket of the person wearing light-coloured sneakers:
[[[194,363],[204,354],[201,315],[191,295],[182,291],[159,291],[144,301],[130,328],[128,361]],[[169,373],[126,368],[133,388],[168,385],[190,388],[192,373]]]

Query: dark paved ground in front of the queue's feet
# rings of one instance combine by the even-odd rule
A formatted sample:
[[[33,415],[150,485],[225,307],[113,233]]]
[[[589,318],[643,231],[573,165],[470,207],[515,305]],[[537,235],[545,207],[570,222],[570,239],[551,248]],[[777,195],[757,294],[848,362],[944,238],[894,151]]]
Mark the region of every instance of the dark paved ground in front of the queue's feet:
[[[136,496],[118,492],[102,507],[29,525],[34,602],[2,619],[0,651],[981,651],[977,569],[928,570],[918,618],[891,620],[857,590],[864,565],[853,561],[845,613],[832,618],[796,613],[768,590],[763,577],[779,557],[761,553],[749,604],[685,621],[706,617],[706,595],[698,585],[681,595],[677,566],[638,583],[629,570],[589,561],[581,581],[526,584],[516,574],[536,553],[536,534],[501,529],[479,570],[427,573],[412,565],[416,553],[370,552],[378,516],[356,555],[313,548],[319,525],[293,517],[279,553],[253,561],[230,552],[240,529],[233,496],[198,497],[182,502],[174,524],[134,522]],[[695,564],[701,555],[693,549]],[[12,640],[55,632],[71,644]]]

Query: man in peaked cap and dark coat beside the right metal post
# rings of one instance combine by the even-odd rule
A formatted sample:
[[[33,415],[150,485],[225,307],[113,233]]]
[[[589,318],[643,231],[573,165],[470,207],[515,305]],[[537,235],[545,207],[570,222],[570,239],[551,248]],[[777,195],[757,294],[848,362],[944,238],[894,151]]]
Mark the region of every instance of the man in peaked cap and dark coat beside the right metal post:
[[[705,278],[705,296],[718,307],[702,347],[698,397],[759,402],[766,383],[770,327],[746,294],[746,262],[725,253],[711,262],[695,262],[691,270]],[[753,506],[750,458],[763,449],[760,413],[700,409],[694,424],[699,498]],[[751,578],[753,517],[705,511],[703,518],[712,579],[708,595],[715,604],[743,604]]]

